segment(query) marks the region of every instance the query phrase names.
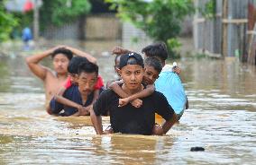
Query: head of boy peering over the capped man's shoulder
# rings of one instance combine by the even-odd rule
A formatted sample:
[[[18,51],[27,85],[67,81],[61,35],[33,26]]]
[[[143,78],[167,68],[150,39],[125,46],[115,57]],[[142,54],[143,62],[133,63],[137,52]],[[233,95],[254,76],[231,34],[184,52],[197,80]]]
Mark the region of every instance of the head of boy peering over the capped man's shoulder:
[[[143,83],[146,85],[153,84],[159,78],[162,66],[160,60],[156,57],[148,57],[144,61],[145,74],[143,76]]]

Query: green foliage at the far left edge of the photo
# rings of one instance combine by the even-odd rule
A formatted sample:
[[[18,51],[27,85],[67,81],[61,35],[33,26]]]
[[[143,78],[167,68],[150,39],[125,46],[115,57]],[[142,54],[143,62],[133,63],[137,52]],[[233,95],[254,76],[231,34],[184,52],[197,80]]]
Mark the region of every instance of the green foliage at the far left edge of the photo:
[[[14,27],[18,24],[13,14],[7,13],[4,2],[0,2],[0,42],[9,39]]]

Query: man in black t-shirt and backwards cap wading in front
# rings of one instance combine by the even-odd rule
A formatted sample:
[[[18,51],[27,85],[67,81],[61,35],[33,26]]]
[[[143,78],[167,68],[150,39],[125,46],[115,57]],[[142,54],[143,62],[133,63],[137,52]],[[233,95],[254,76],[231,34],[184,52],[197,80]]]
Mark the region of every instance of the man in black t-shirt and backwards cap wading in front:
[[[130,53],[121,56],[119,68],[124,92],[132,95],[143,90],[144,65],[141,55]],[[140,108],[134,108],[131,104],[118,107],[119,99],[120,97],[114,91],[106,90],[101,93],[94,104],[90,115],[97,135],[103,134],[101,116],[107,111],[110,114],[110,123],[114,133],[151,135],[155,124],[155,113],[166,120],[162,126],[164,134],[173,125],[171,119],[174,110],[169,106],[163,94],[158,91],[154,91],[149,97],[142,98],[143,103]]]

